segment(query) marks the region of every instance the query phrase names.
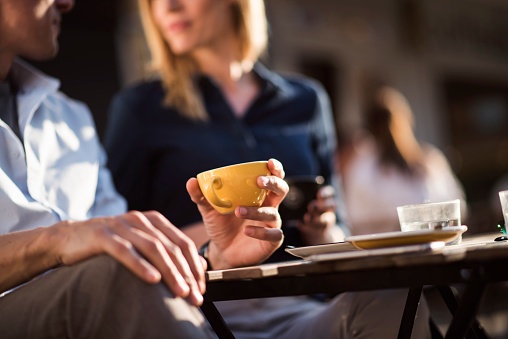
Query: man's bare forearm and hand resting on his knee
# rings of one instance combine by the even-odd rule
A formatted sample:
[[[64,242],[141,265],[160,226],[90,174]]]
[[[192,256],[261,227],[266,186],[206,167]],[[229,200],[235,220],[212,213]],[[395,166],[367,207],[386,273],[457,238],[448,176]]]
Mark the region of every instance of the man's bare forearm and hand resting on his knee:
[[[162,280],[176,296],[194,305],[203,300],[204,260],[194,243],[157,212],[63,221],[0,236],[0,290],[102,253],[147,283]]]

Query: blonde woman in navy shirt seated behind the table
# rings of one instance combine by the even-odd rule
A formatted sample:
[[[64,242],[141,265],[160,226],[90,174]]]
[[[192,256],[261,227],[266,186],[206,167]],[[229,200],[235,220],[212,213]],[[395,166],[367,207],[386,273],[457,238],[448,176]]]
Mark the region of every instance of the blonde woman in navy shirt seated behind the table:
[[[336,136],[328,97],[317,82],[281,76],[258,61],[267,42],[263,1],[139,5],[159,78],[115,97],[105,136],[109,166],[129,207],[161,211],[201,245],[208,239],[201,217],[180,195],[189,176],[276,158],[286,177],[321,175],[328,183],[304,222],[292,230],[283,224],[286,243],[342,240],[339,190],[331,186]],[[237,338],[393,338],[406,296],[390,290],[344,293],[328,302],[304,296],[217,306]],[[422,304],[414,337],[428,337],[426,311]]]

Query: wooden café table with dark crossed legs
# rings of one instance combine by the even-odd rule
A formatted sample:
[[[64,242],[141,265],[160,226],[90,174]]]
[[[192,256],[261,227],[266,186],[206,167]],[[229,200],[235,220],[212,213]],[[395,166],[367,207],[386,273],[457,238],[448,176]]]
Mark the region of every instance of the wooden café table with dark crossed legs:
[[[488,283],[508,280],[508,242],[499,233],[464,237],[459,245],[355,251],[296,261],[207,272],[201,307],[219,338],[234,338],[213,302],[409,288],[399,338],[409,338],[423,286],[439,288],[453,314],[445,338],[486,337],[475,316]],[[420,246],[421,247],[421,246]],[[451,284],[464,284],[456,298]]]

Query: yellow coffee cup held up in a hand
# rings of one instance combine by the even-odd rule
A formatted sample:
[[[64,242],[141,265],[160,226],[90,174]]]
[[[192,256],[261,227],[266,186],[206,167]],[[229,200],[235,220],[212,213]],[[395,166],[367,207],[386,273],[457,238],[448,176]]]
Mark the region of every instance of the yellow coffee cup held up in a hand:
[[[201,172],[197,179],[206,200],[227,214],[236,206],[261,206],[268,191],[259,188],[257,178],[265,175],[271,175],[268,161],[254,161]]]

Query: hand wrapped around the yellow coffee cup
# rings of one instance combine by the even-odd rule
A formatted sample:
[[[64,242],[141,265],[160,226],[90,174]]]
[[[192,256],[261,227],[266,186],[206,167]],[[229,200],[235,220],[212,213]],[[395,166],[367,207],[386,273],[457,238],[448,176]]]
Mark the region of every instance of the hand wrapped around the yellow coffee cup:
[[[258,177],[259,187],[269,190],[261,207],[237,207],[234,214],[220,214],[206,200],[195,178],[187,182],[210,237],[209,260],[213,269],[255,265],[268,258],[282,243],[278,206],[288,192],[282,164],[268,161],[272,176]]]

